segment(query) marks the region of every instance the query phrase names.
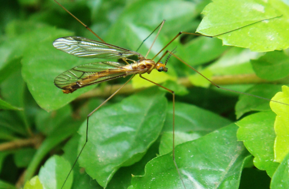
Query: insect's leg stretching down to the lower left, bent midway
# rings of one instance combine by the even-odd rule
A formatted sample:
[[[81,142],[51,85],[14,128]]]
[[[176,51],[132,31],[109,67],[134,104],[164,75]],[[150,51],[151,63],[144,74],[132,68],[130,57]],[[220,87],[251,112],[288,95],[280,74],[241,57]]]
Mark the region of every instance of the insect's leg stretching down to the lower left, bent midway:
[[[134,76],[135,76],[135,74],[134,74],[131,78],[129,78],[129,80],[127,80],[118,90],[116,90],[112,95],[110,95],[110,97],[108,97],[108,98],[107,98],[105,101],[103,101],[97,108],[95,108],[92,112],[90,112],[90,113],[87,115],[87,121],[86,121],[86,140],[85,140],[85,143],[84,143],[83,147],[81,148],[79,154],[77,155],[77,158],[76,158],[75,162],[73,163],[73,165],[72,165],[72,167],[71,167],[71,169],[70,169],[70,171],[69,171],[66,179],[64,180],[64,183],[62,184],[61,189],[63,188],[64,184],[66,183],[66,180],[68,179],[68,177],[69,177],[69,175],[70,175],[73,167],[75,166],[75,164],[76,164],[76,162],[77,162],[77,160],[78,160],[78,158],[79,158],[82,150],[84,149],[84,147],[85,147],[85,145],[86,145],[86,143],[87,143],[87,139],[88,139],[88,118],[89,118],[94,112],[96,112],[101,106],[103,106],[105,103],[107,103],[116,93],[118,93],[118,91],[120,91]]]

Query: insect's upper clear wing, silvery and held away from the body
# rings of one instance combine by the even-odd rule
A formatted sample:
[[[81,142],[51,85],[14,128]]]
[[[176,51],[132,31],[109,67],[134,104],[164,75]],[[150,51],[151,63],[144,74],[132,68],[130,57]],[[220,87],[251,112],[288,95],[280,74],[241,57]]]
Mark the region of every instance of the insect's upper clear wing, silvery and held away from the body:
[[[53,46],[56,49],[81,58],[118,59],[131,55],[143,57],[140,53],[83,37],[68,36],[58,38],[53,42]]]

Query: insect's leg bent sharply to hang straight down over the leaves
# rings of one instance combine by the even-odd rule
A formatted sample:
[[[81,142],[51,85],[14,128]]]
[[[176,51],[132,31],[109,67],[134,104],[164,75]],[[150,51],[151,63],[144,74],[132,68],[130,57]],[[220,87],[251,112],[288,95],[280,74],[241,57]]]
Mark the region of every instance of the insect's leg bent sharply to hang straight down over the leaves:
[[[159,87],[167,90],[168,92],[172,93],[172,95],[173,95],[173,162],[174,162],[174,164],[175,164],[175,167],[176,167],[176,169],[177,169],[177,172],[178,172],[178,174],[179,174],[179,177],[180,177],[180,179],[181,179],[181,182],[183,183],[184,188],[186,189],[184,180],[183,180],[183,178],[182,178],[182,176],[181,176],[181,173],[180,173],[180,171],[179,171],[179,167],[177,166],[177,162],[176,162],[176,160],[175,160],[175,92],[174,92],[173,90],[171,90],[171,89],[168,89],[168,88],[166,88],[166,87],[158,84],[158,83],[155,83],[155,82],[153,82],[153,81],[151,81],[151,80],[149,80],[149,79],[147,79],[147,78],[142,77],[142,75],[140,75],[140,77],[141,77],[142,79],[145,79],[145,80],[147,80],[147,81],[149,81],[149,82],[151,82],[151,83],[153,83],[153,84],[155,84],[155,85],[157,85],[157,86],[159,86]]]

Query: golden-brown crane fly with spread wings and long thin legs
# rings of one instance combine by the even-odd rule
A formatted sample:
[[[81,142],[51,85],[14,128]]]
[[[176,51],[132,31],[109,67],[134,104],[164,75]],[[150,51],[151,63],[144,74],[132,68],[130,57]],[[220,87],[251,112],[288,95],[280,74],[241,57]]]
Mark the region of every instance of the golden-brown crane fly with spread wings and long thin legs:
[[[164,21],[159,25],[158,34],[160,33],[160,30],[162,29],[162,26],[164,25]],[[185,32],[184,32],[185,33]],[[157,36],[158,36],[157,34]],[[186,33],[190,34],[190,33]],[[180,34],[179,34],[180,35]],[[177,37],[177,36],[176,36]],[[155,38],[156,39],[156,38]],[[174,38],[175,39],[175,38]],[[173,40],[174,40],[173,39]],[[172,40],[172,41],[173,41]],[[171,41],[171,42],[172,42]],[[169,42],[169,43],[171,43]],[[62,74],[60,74],[58,77],[55,78],[55,85],[63,90],[64,93],[72,93],[75,90],[90,86],[93,84],[101,83],[104,81],[109,81],[112,79],[120,78],[120,77],[126,77],[129,75],[132,75],[134,77],[136,74],[140,74],[140,77],[142,79],[145,79],[147,81],[150,81],[153,84],[156,84],[167,91],[171,92],[173,94],[173,103],[175,102],[175,94],[172,90],[169,88],[166,88],[164,86],[161,86],[160,84],[155,83],[154,81],[151,81],[145,77],[142,76],[144,73],[151,73],[153,69],[157,69],[159,72],[166,72],[168,69],[166,68],[166,62],[163,64],[160,62],[160,60],[167,54],[174,56],[175,58],[179,59],[181,62],[192,68],[190,65],[188,65],[186,62],[182,61],[179,57],[177,57],[174,53],[171,51],[166,51],[160,60],[154,61],[154,59],[157,57],[159,53],[161,53],[168,45],[166,45],[163,49],[160,50],[159,53],[157,53],[152,59],[147,59],[147,53],[146,56],[141,55],[140,53],[137,53],[135,51],[123,49],[121,47],[117,47],[114,45],[110,45],[105,42],[99,42],[95,40],[90,40],[83,37],[62,37],[59,39],[56,39],[53,42],[54,47],[57,49],[60,49],[66,53],[83,57],[83,58],[107,58],[107,59],[115,59],[119,58],[122,59],[125,64],[119,63],[119,62],[111,62],[111,61],[103,61],[103,62],[97,62],[97,63],[90,63],[90,64],[84,64],[81,66],[76,66],[75,68],[72,68]],[[152,43],[153,45],[153,43]],[[151,45],[151,47],[152,47]],[[150,49],[151,49],[150,47]],[[136,55],[138,57],[138,60],[132,60],[128,57],[131,55]],[[194,68],[192,68],[194,71]],[[200,73],[201,74],[201,73]],[[202,74],[201,74],[202,75]],[[204,75],[202,75],[205,77]],[[132,78],[131,77],[131,78]],[[89,117],[97,111],[104,103],[106,103],[108,100],[110,100],[121,88],[123,88],[130,80],[128,79],[118,90],[116,90],[108,99],[106,99],[98,108],[96,108],[94,111],[92,111],[87,118],[86,122],[86,133],[88,133],[87,129],[89,126]],[[205,77],[206,78],[206,77]],[[226,89],[225,89],[226,90]],[[234,90],[229,90],[234,91]],[[173,125],[174,125],[174,105],[173,105]],[[88,135],[86,134],[86,141],[87,141]],[[174,136],[173,136],[174,138]],[[174,142],[174,140],[173,140]],[[174,144],[173,144],[174,146]],[[81,151],[85,148],[85,144],[82,147]],[[175,155],[175,151],[173,149],[173,157]],[[80,156],[81,157],[81,156]],[[186,188],[185,181],[182,180],[182,175],[184,173],[180,173],[178,169],[177,162],[174,164],[176,166],[176,170],[178,172],[179,178],[181,181],[179,181],[178,186],[182,185],[184,188]]]

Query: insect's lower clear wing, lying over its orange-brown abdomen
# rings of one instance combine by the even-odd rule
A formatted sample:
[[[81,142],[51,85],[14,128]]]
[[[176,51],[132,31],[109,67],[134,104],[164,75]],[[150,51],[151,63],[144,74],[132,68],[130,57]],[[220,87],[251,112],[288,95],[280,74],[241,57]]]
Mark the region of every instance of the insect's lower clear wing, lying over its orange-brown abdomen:
[[[82,87],[138,72],[139,70],[133,69],[130,65],[123,65],[118,62],[96,62],[76,66],[63,72],[54,79],[54,84],[63,89],[64,93],[71,93]]]

